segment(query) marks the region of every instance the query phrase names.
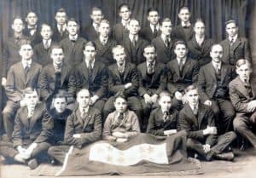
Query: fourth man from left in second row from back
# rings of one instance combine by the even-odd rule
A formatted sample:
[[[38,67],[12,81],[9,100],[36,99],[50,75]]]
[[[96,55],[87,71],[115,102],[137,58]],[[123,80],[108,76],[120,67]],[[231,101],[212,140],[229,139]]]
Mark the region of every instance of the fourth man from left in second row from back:
[[[112,65],[113,60],[112,49],[117,44],[110,36],[110,23],[108,20],[102,20],[99,26],[99,37],[96,38],[96,58],[101,60],[102,63],[109,66]]]

